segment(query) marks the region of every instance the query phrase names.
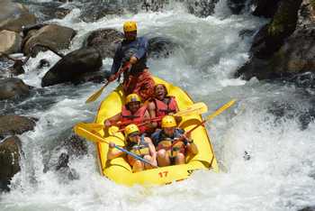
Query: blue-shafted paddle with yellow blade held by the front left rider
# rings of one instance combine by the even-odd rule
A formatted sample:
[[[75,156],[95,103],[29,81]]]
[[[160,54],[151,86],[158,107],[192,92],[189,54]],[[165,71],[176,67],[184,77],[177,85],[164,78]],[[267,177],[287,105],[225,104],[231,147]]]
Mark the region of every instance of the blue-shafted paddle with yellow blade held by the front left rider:
[[[85,133],[87,133],[89,137],[93,137],[93,139],[86,139],[87,141],[95,142],[95,143],[104,142],[104,143],[109,144],[109,142],[107,142],[107,141],[106,141],[105,139],[103,139],[101,136],[94,134],[94,133],[92,132],[90,126],[86,126],[86,124],[84,124],[84,123],[76,124],[76,126],[75,126],[75,131],[76,131],[76,133],[78,133],[77,128],[80,128],[81,130],[84,130]],[[150,163],[149,161],[147,161],[147,160],[145,160],[145,159],[139,157],[139,155],[137,155],[137,154],[135,154],[135,153],[132,153],[131,151],[127,151],[127,150],[125,150],[125,149],[123,149],[123,148],[117,146],[116,144],[114,145],[114,148],[116,148],[117,150],[120,150],[120,151],[123,151],[123,152],[129,154],[129,155],[130,155],[131,157],[133,157],[134,159],[137,159],[137,160],[139,160],[139,161],[145,162],[145,163],[147,163],[148,165],[151,165],[151,166],[157,168],[156,165],[153,165],[153,164]]]

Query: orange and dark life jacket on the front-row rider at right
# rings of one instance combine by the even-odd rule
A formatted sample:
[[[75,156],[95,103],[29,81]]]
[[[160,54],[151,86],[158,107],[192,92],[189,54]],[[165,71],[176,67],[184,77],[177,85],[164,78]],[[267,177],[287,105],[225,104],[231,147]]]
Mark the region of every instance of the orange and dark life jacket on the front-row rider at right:
[[[165,149],[170,157],[175,157],[178,152],[185,152],[185,142],[178,142],[178,138],[183,134],[182,130],[175,129],[175,134],[173,137],[166,137],[166,134],[163,131],[159,131],[156,138],[157,140],[157,151]]]

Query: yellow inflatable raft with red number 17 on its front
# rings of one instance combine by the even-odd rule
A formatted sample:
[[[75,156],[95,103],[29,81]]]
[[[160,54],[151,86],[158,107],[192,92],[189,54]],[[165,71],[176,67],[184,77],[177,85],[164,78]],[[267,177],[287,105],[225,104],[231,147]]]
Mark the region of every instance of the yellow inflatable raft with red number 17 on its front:
[[[193,105],[193,100],[179,87],[175,87],[166,81],[155,78],[156,83],[166,85],[168,94],[175,96],[179,110],[184,109],[189,105]],[[103,124],[103,121],[112,115],[121,112],[121,105],[124,104],[124,95],[121,87],[117,87],[112,93],[107,96],[96,114],[94,123]],[[196,124],[201,123],[201,115],[184,116],[183,121],[179,125],[185,131],[193,128]],[[108,144],[102,142],[105,139],[107,142],[115,142],[120,146],[124,146],[124,136],[122,133],[114,133],[109,135],[100,127],[90,128],[76,124],[75,133],[84,137],[89,141],[96,142],[96,151],[99,162],[100,171],[103,176],[112,179],[116,183],[132,186],[140,184],[144,186],[169,184],[174,181],[187,179],[194,170],[214,170],[218,171],[218,163],[211,148],[211,142],[207,131],[203,126],[198,127],[192,133],[194,143],[197,145],[199,153],[195,156],[187,155],[186,164],[174,165],[168,167],[159,167],[153,170],[144,170],[137,173],[132,173],[130,165],[126,161],[125,156],[107,160]]]

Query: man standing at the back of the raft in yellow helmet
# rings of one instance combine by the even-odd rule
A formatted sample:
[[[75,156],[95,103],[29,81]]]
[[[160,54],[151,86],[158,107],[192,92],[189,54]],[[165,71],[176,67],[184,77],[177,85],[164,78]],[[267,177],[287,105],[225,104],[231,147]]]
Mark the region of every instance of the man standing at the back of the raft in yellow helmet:
[[[142,101],[146,101],[152,96],[154,87],[154,80],[147,67],[148,40],[145,37],[137,37],[137,23],[135,22],[125,22],[123,32],[125,38],[115,52],[112,75],[108,80],[114,80],[114,74],[121,66],[130,62],[131,69],[123,73],[123,91],[126,96],[136,93]]]

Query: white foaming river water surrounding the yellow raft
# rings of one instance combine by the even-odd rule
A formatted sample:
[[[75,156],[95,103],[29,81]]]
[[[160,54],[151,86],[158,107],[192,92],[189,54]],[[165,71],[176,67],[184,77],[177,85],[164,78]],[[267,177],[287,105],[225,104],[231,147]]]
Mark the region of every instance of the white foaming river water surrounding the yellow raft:
[[[42,1],[42,0],[40,0]],[[46,0],[45,0],[46,1]],[[88,32],[135,20],[140,34],[174,39],[180,48],[167,58],[148,60],[151,72],[184,88],[195,101],[203,101],[210,112],[232,98],[238,100],[207,124],[220,163],[220,173],[198,171],[190,179],[157,188],[126,188],[103,178],[98,172],[94,145],[87,155],[71,158],[77,180],[64,179],[55,171],[43,173],[48,151],[80,121],[93,121],[98,99],[85,99],[101,84],[58,85],[40,88],[48,69],[37,70],[46,58],[59,59],[51,52],[29,60],[25,83],[39,87],[21,103],[6,104],[9,113],[39,118],[35,131],[23,133],[22,171],[14,177],[12,191],[0,195],[0,210],[297,210],[315,201],[315,124],[302,130],[299,116],[311,107],[311,92],[290,84],[243,81],[233,78],[248,59],[252,37],[238,35],[256,31],[266,20],[247,14],[230,15],[225,1],[215,14],[198,18],[182,5],[158,13],[104,17],[84,23],[74,9],[63,20],[52,20],[74,28],[78,34],[68,52],[81,47]],[[110,69],[112,60],[103,60]],[[106,96],[115,84],[107,87]],[[290,114],[277,118],[270,112],[275,104],[290,105]],[[68,134],[68,133],[67,133]],[[67,135],[66,135],[67,136]],[[247,151],[247,155],[245,154]],[[56,152],[57,153],[57,152]],[[248,159],[249,158],[249,159]]]

